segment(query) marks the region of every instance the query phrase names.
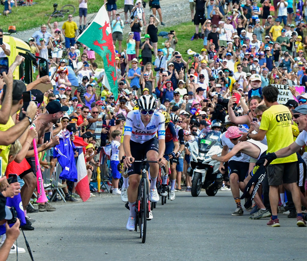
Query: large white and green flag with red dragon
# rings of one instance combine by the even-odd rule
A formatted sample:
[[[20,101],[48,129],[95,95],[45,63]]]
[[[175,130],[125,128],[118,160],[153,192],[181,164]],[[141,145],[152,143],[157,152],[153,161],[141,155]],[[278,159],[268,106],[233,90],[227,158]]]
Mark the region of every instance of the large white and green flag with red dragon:
[[[113,93],[116,100],[118,94],[115,51],[113,47],[111,24],[104,5],[99,9],[91,24],[78,37],[78,41],[101,56],[105,70],[103,84]]]

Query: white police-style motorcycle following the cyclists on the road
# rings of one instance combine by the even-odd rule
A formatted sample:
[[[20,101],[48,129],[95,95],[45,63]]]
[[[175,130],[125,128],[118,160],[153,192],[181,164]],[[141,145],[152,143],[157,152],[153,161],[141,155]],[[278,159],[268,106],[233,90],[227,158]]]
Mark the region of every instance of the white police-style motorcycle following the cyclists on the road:
[[[220,131],[207,130],[198,135],[194,140],[189,140],[191,152],[191,168],[187,171],[192,176],[191,194],[197,197],[204,188],[208,196],[215,196],[223,183],[223,174],[219,171],[219,161],[214,161],[211,156],[220,156],[223,146]]]

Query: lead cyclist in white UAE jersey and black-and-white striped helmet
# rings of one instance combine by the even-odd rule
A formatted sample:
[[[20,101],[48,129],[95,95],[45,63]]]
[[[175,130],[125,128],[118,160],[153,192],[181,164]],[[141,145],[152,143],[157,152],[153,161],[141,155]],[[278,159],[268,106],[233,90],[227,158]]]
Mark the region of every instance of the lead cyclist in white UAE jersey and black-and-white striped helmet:
[[[141,163],[134,160],[157,161],[159,165],[165,165],[163,157],[165,151],[165,119],[160,112],[155,112],[157,102],[151,95],[143,95],[138,99],[139,110],[130,111],[127,114],[124,127],[123,147],[126,154],[124,165],[128,168],[129,187],[127,189],[130,215],[126,228],[134,230],[135,203],[138,194],[138,185],[141,179]],[[158,135],[158,138],[156,137]],[[132,161],[130,161],[132,158]],[[159,201],[156,188],[159,166],[157,163],[150,165],[150,201]]]

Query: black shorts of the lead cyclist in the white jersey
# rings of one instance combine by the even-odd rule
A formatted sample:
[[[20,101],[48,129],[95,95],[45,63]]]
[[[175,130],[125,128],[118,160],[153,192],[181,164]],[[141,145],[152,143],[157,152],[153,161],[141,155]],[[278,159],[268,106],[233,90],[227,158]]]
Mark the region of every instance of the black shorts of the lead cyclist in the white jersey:
[[[147,142],[144,142],[143,144],[130,140],[131,156],[134,157],[135,161],[144,160],[144,158],[146,158],[146,153],[148,151],[154,150],[158,152],[158,149],[159,149],[159,142],[156,137],[150,139]],[[132,163],[131,167],[128,168],[127,172],[128,176],[132,174],[141,175],[141,168],[142,168],[141,162]]]

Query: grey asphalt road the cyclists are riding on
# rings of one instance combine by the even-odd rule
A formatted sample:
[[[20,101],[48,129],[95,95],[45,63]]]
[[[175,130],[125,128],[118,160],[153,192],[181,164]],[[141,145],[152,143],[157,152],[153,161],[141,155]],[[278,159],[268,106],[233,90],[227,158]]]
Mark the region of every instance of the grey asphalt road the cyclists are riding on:
[[[307,228],[279,215],[281,227],[267,227],[268,218],[232,217],[231,191],[208,197],[176,192],[161,201],[147,221],[146,243],[126,230],[129,215],[120,196],[101,194],[87,202],[53,203],[53,212],[32,214],[34,231],[25,235],[35,261],[94,260],[298,260],[305,256]],[[18,246],[25,248],[22,235]],[[30,260],[29,254],[18,255]],[[8,261],[16,260],[9,255]]]

